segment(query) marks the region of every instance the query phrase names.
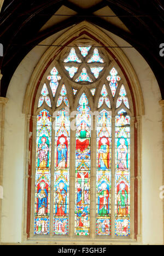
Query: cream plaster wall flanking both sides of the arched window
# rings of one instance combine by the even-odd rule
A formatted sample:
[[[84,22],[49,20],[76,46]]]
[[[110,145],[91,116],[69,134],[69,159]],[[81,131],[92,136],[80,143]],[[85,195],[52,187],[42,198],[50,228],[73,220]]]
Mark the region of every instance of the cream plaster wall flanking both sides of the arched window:
[[[105,31],[107,33],[107,31]],[[128,45],[112,33],[107,33],[120,45]],[[57,35],[59,36],[59,34]],[[55,37],[57,37],[55,36]],[[50,37],[44,43],[51,43]],[[1,242],[20,242],[22,225],[22,193],[24,176],[25,117],[22,104],[25,90],[38,60],[46,48],[37,46],[20,63],[11,79],[5,111],[4,137],[4,199],[2,204]],[[162,185],[162,113],[160,90],[147,62],[136,50],[123,49],[136,71],[142,88],[145,116],[143,117],[142,147],[142,234],[144,244],[162,244],[163,213],[159,187]]]

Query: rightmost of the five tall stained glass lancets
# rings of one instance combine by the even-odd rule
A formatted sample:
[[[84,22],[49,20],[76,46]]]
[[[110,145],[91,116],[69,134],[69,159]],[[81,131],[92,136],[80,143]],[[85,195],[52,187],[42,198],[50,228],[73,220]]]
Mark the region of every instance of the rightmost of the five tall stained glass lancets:
[[[130,117],[115,118],[115,235],[130,236]]]

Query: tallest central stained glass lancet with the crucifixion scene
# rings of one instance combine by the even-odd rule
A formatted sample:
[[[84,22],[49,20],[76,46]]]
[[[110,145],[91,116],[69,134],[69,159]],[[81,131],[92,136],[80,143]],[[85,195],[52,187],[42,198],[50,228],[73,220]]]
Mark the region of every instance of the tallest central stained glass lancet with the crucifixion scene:
[[[75,235],[90,234],[90,107],[85,94],[81,95],[76,123],[75,149]]]

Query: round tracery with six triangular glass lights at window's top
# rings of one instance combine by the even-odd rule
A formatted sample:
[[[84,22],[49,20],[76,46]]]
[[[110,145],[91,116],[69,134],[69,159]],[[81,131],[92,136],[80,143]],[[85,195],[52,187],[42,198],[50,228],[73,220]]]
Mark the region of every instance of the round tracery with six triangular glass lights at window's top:
[[[61,65],[69,79],[76,84],[98,82],[106,69],[106,57],[101,49],[92,45],[75,45],[67,50]]]

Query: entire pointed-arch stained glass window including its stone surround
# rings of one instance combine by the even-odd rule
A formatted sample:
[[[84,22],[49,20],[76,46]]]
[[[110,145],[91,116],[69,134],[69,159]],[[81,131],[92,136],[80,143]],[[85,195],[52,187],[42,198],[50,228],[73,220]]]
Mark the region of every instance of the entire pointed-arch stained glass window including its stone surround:
[[[54,45],[38,62],[24,100],[27,238],[137,240],[137,120],[144,114],[137,75],[115,42],[89,22]]]

